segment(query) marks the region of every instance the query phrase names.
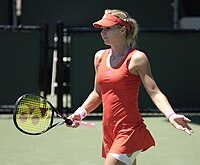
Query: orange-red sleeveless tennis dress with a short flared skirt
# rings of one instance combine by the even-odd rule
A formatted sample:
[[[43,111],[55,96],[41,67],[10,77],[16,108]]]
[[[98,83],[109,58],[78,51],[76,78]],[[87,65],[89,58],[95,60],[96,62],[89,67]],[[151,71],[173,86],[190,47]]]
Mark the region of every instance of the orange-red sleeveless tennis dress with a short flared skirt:
[[[155,145],[138,109],[138,93],[141,84],[139,76],[128,70],[134,49],[116,67],[108,67],[107,49],[97,65],[97,83],[102,94],[102,156],[108,152],[131,154],[145,151]]]

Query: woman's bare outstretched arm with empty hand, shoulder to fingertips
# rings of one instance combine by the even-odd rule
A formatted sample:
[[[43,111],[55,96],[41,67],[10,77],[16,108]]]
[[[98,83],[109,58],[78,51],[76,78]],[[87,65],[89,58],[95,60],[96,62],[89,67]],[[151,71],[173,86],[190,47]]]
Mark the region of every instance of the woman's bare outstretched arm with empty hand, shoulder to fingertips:
[[[171,124],[180,130],[191,134],[192,129],[187,125],[191,122],[183,115],[178,115],[172,109],[166,96],[160,91],[151,73],[149,60],[143,52],[137,51],[131,59],[129,70],[132,74],[139,75],[142,83],[157,108],[169,119]]]

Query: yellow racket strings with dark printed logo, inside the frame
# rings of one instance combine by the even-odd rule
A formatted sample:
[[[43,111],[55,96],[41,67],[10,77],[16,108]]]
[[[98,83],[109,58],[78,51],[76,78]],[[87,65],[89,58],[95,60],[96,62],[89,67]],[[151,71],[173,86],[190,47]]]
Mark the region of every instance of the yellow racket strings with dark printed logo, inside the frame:
[[[52,124],[52,108],[42,98],[27,96],[17,106],[18,127],[28,133],[41,133]]]

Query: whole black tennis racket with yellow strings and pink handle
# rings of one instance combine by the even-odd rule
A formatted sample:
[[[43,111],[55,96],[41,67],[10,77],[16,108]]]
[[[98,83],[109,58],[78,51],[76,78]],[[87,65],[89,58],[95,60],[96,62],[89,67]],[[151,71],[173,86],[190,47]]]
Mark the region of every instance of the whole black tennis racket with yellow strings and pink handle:
[[[63,120],[54,123],[55,115]],[[64,123],[73,124],[70,119],[60,114],[48,100],[35,94],[25,94],[19,97],[13,110],[13,121],[18,130],[29,135],[40,135]],[[95,127],[95,124],[90,122],[74,122],[90,128]]]

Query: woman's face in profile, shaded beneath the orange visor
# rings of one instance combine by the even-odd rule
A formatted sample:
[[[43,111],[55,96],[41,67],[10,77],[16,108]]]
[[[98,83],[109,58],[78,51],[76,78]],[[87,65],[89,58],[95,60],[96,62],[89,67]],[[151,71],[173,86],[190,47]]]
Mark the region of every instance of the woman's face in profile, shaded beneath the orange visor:
[[[121,25],[114,25],[111,27],[101,27],[101,37],[104,40],[106,45],[111,45],[116,41],[119,41],[119,37],[121,35],[120,29]]]

